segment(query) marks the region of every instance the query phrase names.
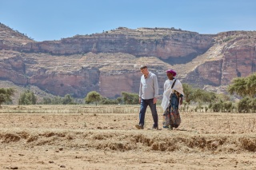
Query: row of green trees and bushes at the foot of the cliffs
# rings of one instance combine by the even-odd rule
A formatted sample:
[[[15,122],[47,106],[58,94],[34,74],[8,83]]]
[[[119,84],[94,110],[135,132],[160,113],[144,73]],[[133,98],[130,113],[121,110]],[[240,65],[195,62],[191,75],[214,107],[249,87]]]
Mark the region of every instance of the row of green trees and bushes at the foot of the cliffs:
[[[227,88],[228,94],[218,94],[208,92],[203,89],[194,88],[192,85],[183,84],[184,100],[182,104],[183,111],[200,111],[207,112],[238,112],[238,113],[255,113],[256,112],[256,73],[248,77],[237,77],[231,81]],[[0,106],[2,103],[10,103],[11,96],[14,95],[14,89],[0,89]],[[235,103],[234,95],[240,97]],[[122,92],[121,97],[110,99],[102,97],[96,91],[87,93],[84,98],[85,104],[94,105],[136,105],[138,104],[138,93]],[[161,101],[158,100],[158,104]],[[30,90],[20,94],[18,105],[78,105],[81,101],[76,101],[70,94],[65,97],[44,97],[41,103],[37,103],[37,97]],[[191,109],[190,105],[196,105]]]

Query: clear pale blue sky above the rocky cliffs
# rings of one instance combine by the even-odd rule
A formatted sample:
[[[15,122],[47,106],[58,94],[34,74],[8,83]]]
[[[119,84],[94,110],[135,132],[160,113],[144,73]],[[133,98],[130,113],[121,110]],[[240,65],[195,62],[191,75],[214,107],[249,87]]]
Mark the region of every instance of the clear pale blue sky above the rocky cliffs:
[[[256,0],[0,0],[0,22],[35,41],[125,26],[256,30]]]

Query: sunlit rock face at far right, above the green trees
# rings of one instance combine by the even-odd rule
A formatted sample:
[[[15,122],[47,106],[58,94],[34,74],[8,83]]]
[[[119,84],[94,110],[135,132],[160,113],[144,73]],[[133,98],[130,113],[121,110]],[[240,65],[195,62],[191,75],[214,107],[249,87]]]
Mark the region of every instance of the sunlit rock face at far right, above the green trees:
[[[229,85],[235,77],[256,72],[256,31],[232,31],[218,34],[216,45],[221,49],[191,71],[185,81],[204,85]]]

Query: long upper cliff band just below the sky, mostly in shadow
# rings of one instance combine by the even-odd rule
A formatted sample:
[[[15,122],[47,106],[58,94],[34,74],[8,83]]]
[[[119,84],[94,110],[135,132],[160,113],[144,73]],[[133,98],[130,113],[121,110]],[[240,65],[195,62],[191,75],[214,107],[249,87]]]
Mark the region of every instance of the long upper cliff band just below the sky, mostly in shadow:
[[[213,36],[171,29],[118,29],[103,34],[78,35],[61,41],[29,42],[24,45],[0,43],[0,49],[29,53],[71,55],[77,53],[130,53],[134,56],[190,57],[204,53],[213,44]]]

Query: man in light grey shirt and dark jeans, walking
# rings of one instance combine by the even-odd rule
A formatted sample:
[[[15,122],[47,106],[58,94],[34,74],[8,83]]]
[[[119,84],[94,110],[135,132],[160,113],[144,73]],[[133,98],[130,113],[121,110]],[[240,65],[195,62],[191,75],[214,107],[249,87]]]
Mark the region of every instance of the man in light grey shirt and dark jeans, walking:
[[[158,113],[156,108],[158,97],[158,79],[154,73],[149,72],[146,65],[141,65],[142,72],[141,82],[139,86],[139,103],[141,109],[139,112],[139,123],[135,125],[138,129],[144,128],[144,119],[146,108],[149,105],[154,120],[154,129],[158,129]]]

